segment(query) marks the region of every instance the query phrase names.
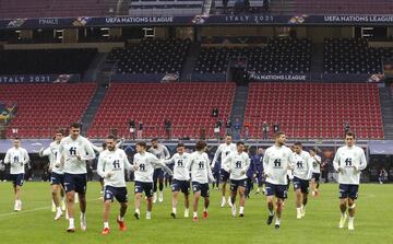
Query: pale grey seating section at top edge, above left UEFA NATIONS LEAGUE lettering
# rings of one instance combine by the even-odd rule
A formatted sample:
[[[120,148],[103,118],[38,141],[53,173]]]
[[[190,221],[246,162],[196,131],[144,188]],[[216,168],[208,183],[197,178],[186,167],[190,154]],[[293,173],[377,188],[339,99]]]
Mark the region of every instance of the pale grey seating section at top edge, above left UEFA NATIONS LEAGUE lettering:
[[[201,14],[203,0],[131,0],[130,15],[196,15]]]

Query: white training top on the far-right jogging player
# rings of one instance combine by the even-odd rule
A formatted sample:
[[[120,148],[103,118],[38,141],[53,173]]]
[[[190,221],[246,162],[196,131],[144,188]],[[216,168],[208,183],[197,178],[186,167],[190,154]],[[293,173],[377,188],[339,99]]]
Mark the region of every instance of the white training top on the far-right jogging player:
[[[338,172],[340,184],[359,185],[360,171],[367,166],[365,151],[357,146],[341,147],[334,156],[333,166]]]

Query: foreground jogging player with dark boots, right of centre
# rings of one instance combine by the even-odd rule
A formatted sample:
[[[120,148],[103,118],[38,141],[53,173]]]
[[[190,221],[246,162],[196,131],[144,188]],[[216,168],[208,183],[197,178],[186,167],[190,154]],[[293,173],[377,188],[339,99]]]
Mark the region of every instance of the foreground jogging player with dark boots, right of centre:
[[[283,205],[287,198],[287,171],[294,167],[294,153],[285,146],[286,137],[283,131],[274,135],[274,146],[266,149],[263,156],[263,170],[266,177],[266,201],[270,225],[276,216],[275,228],[279,229]],[[276,197],[276,212],[274,212],[274,197]]]

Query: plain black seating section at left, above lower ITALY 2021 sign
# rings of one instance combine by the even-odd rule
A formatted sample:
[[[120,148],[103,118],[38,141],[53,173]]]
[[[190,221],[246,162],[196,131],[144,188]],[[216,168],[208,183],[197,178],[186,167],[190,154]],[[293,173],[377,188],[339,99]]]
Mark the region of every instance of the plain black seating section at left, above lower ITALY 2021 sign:
[[[0,51],[0,73],[83,74],[96,54],[96,49],[2,50]]]

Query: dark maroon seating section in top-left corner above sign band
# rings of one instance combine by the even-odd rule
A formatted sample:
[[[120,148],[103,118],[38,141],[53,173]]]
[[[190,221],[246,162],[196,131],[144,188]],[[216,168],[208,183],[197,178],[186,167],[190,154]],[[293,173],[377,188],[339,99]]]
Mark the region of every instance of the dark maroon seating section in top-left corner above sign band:
[[[114,13],[117,0],[0,0],[0,16],[70,18],[104,16]]]

